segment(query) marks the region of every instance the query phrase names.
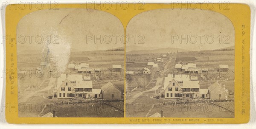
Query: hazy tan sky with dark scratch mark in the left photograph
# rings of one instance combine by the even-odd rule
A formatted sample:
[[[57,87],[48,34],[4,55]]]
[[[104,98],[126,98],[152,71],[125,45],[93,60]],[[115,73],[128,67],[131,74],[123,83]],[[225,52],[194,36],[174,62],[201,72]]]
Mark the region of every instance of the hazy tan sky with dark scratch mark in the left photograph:
[[[82,8],[60,8],[59,10],[41,10],[27,14],[17,25],[17,36],[34,35],[32,43],[29,44],[29,37],[24,44],[18,44],[18,50],[42,49],[47,43],[47,37],[51,36],[53,42],[58,35],[57,40],[60,44],[57,48],[67,45],[68,49],[76,51],[107,50],[111,48],[124,47],[124,44],[118,40],[116,44],[113,35],[124,35],[124,29],[115,16],[104,11],[82,9]],[[44,42],[38,44],[35,42],[35,36],[42,35]],[[102,44],[95,37],[102,35]],[[110,42],[111,36],[112,40]],[[91,39],[92,38],[92,39]],[[88,40],[87,40],[88,39]],[[91,39],[91,40],[89,40]],[[38,37],[40,41],[40,37]],[[104,43],[106,41],[106,43]],[[69,48],[70,47],[70,48]]]

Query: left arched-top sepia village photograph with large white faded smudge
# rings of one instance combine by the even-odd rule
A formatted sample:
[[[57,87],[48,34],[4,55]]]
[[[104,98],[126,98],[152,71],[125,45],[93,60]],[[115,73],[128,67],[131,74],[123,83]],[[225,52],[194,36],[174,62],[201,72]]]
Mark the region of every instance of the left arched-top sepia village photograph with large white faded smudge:
[[[40,10],[18,23],[19,117],[124,117],[124,28],[99,10]]]

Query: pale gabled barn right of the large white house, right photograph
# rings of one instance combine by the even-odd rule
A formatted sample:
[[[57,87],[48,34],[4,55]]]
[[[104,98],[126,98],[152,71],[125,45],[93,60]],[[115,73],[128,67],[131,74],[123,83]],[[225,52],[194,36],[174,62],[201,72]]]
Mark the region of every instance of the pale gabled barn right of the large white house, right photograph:
[[[208,87],[210,99],[227,99],[229,96],[228,90],[221,86],[217,81]]]

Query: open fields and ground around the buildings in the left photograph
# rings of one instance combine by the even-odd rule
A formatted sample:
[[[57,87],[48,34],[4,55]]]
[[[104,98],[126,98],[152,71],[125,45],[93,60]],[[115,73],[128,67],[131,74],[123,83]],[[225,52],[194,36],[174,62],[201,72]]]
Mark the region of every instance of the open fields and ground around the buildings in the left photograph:
[[[56,80],[60,74],[82,74],[83,76],[91,76],[93,81],[93,88],[100,88],[108,81],[111,81],[116,87],[124,92],[124,72],[116,73],[102,73],[101,79],[96,79],[96,74],[89,73],[78,73],[74,70],[68,70],[64,73],[52,72],[49,76],[48,69],[42,69],[44,74],[41,77],[35,76],[35,70],[37,67],[40,67],[40,62],[42,59],[42,54],[28,54],[28,55],[19,55],[18,58],[18,69],[34,69],[31,76],[27,71],[26,76],[18,76],[18,104],[25,104],[26,109],[19,111],[19,117],[38,117],[38,114],[41,112],[42,107],[45,104],[68,101],[68,99],[49,99],[44,98],[49,95],[52,95],[52,88],[56,86]],[[89,51],[89,52],[72,52],[70,54],[69,62],[85,62],[89,64],[90,68],[100,68],[102,70],[112,68],[112,64],[121,64],[124,68],[124,51],[110,51],[110,50],[99,50],[99,51]],[[68,64],[66,64],[67,67]],[[53,77],[55,76],[55,77]],[[32,104],[31,110],[28,108]],[[37,104],[37,105],[36,105]],[[89,103],[90,104],[90,103]],[[111,105],[108,103],[107,105]],[[121,102],[123,105],[123,102]],[[106,104],[102,104],[106,107]],[[115,105],[115,103],[113,103]],[[61,112],[69,112],[72,108],[77,110],[76,113],[72,112],[67,116],[67,114],[59,114],[58,117],[123,117],[123,111],[116,109],[98,110],[95,113],[84,112],[84,108],[88,107],[87,104],[81,105],[63,105],[58,107]],[[91,106],[91,105],[90,105]],[[90,107],[89,107],[90,109]],[[52,110],[51,110],[52,112]],[[84,112],[84,113],[83,113]],[[57,112],[57,115],[60,112]]]

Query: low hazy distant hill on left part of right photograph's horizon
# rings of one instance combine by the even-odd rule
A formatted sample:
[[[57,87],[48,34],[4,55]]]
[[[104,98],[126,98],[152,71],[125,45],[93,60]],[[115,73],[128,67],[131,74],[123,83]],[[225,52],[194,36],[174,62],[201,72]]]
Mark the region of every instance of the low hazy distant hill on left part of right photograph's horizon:
[[[132,51],[126,51],[126,54],[145,54],[145,53],[167,53],[167,52],[184,52],[184,51],[190,51],[180,48],[158,48],[154,50],[132,50]]]

